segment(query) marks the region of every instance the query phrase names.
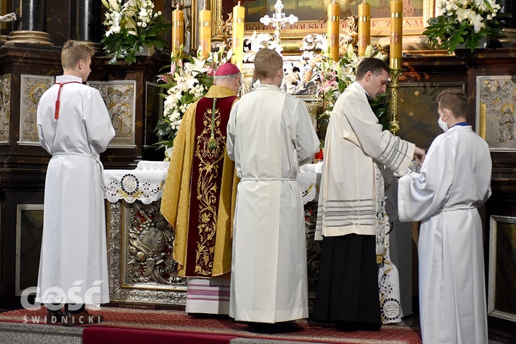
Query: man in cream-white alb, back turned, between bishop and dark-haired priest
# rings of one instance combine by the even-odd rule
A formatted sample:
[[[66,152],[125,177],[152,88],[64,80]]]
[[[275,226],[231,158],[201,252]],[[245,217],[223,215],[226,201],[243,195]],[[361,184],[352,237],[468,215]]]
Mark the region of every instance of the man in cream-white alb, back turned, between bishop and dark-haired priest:
[[[259,50],[260,85],[231,109],[228,156],[241,178],[233,230],[229,315],[252,332],[283,332],[308,317],[305,224],[299,165],[319,139],[302,100],[279,89],[283,58]],[[275,325],[276,324],[276,325]],[[290,327],[290,328],[289,328]]]

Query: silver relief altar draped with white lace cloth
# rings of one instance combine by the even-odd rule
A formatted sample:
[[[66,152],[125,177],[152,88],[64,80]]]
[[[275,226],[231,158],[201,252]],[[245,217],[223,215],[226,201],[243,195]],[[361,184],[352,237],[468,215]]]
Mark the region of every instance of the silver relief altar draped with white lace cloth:
[[[111,303],[149,308],[186,304],[186,279],[172,257],[174,230],[160,213],[169,162],[140,161],[136,169],[105,169]],[[308,290],[313,296],[320,244],[314,241],[322,162],[301,166],[305,204]]]

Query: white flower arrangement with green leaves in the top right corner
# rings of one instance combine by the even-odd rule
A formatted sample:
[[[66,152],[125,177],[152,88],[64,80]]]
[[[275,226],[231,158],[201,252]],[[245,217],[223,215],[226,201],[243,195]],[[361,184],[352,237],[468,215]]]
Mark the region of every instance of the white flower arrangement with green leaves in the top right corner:
[[[438,0],[437,8],[442,12],[429,19],[423,34],[432,47],[439,47],[451,54],[458,45],[464,45],[473,52],[480,47],[480,41],[487,36],[504,36],[499,17],[510,17],[499,13],[504,0]]]

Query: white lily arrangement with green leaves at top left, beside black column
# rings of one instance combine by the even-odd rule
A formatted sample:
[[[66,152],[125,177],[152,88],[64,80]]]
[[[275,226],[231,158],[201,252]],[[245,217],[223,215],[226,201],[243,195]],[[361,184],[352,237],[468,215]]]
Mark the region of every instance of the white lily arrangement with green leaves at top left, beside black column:
[[[171,24],[165,23],[160,11],[154,12],[151,0],[128,0],[123,4],[122,0],[102,0],[102,3],[107,9],[104,25],[109,29],[100,43],[111,57],[109,63],[120,58],[130,65],[144,49],[162,50],[166,45],[161,34]]]

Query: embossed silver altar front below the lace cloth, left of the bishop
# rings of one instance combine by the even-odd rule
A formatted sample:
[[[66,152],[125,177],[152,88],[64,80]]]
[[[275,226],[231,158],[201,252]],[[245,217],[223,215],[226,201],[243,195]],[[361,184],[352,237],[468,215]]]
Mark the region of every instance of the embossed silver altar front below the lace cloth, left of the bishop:
[[[174,233],[159,211],[160,201],[107,204],[111,301],[185,305],[186,279],[178,277]]]

